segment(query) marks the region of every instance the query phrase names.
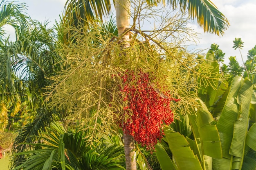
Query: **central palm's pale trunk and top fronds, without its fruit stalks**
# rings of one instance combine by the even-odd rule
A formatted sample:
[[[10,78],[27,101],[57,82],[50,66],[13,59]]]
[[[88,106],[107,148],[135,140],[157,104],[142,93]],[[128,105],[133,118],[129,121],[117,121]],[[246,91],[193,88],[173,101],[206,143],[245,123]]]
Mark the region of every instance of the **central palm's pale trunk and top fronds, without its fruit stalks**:
[[[121,48],[129,47],[129,35],[133,28],[130,28],[130,4],[131,0],[113,0],[115,4],[117,29],[119,39],[124,42]],[[165,0],[146,0],[150,5],[157,6],[165,4]],[[217,7],[210,0],[168,0],[167,7],[180,9],[183,13],[188,11],[192,19],[197,19],[198,24],[205,32],[223,35],[229,26],[227,18],[218,11]],[[65,4],[65,15],[63,22],[66,26],[76,25],[79,22],[88,24],[95,20],[103,20],[103,16],[111,13],[110,0],[67,0]],[[134,16],[135,20],[137,16]],[[134,24],[133,24],[134,25]],[[134,138],[131,135],[124,135],[124,147],[126,154],[126,168],[136,169]]]

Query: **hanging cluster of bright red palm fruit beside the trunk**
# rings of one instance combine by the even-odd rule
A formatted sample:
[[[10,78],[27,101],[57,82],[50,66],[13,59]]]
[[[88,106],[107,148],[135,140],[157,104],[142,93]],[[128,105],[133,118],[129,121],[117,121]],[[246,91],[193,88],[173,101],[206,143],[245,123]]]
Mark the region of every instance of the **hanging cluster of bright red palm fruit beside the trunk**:
[[[157,139],[162,138],[162,125],[173,122],[170,102],[179,99],[171,98],[168,94],[161,97],[152,87],[148,73],[142,71],[135,76],[134,72],[126,70],[121,80],[123,86],[120,86],[120,91],[127,105],[122,115],[124,122],[120,126],[125,134],[134,136],[136,142],[151,150],[157,144]]]

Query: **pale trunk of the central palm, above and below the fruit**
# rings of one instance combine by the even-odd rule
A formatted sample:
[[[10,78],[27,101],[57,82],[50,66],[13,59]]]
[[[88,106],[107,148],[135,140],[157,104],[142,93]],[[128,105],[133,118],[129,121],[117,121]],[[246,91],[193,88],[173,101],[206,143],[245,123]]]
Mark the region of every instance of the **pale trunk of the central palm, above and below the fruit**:
[[[130,0],[116,0],[115,8],[117,13],[118,36],[122,37],[121,48],[128,48],[129,32],[126,29],[130,27]],[[126,158],[126,170],[136,170],[134,137],[124,134],[124,153]]]

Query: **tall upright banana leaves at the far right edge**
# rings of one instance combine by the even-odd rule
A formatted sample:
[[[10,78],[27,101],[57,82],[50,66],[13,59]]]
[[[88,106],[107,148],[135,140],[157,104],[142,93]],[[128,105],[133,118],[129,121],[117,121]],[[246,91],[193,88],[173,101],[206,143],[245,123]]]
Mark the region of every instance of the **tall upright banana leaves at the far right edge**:
[[[255,122],[249,127],[254,83],[255,78],[252,82],[242,77],[233,78],[217,123],[223,156],[222,159],[213,159],[213,169],[247,170],[256,167]]]

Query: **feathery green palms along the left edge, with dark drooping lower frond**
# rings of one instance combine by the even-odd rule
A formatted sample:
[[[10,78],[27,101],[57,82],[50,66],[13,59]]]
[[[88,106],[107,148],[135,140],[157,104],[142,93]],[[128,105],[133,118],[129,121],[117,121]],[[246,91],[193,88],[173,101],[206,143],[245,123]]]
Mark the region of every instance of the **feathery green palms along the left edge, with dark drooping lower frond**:
[[[29,146],[22,143],[36,141],[33,136],[52,121],[54,111],[45,108],[43,88],[51,83],[49,77],[62,65],[62,58],[55,50],[54,28],[47,28],[47,22],[32,21],[25,10],[24,3],[0,2],[0,122],[8,122],[8,117],[22,113],[34,116],[34,121],[23,127],[15,139],[15,152],[26,150]],[[15,29],[14,41],[4,37],[6,24]],[[22,159],[16,157],[13,167]]]

